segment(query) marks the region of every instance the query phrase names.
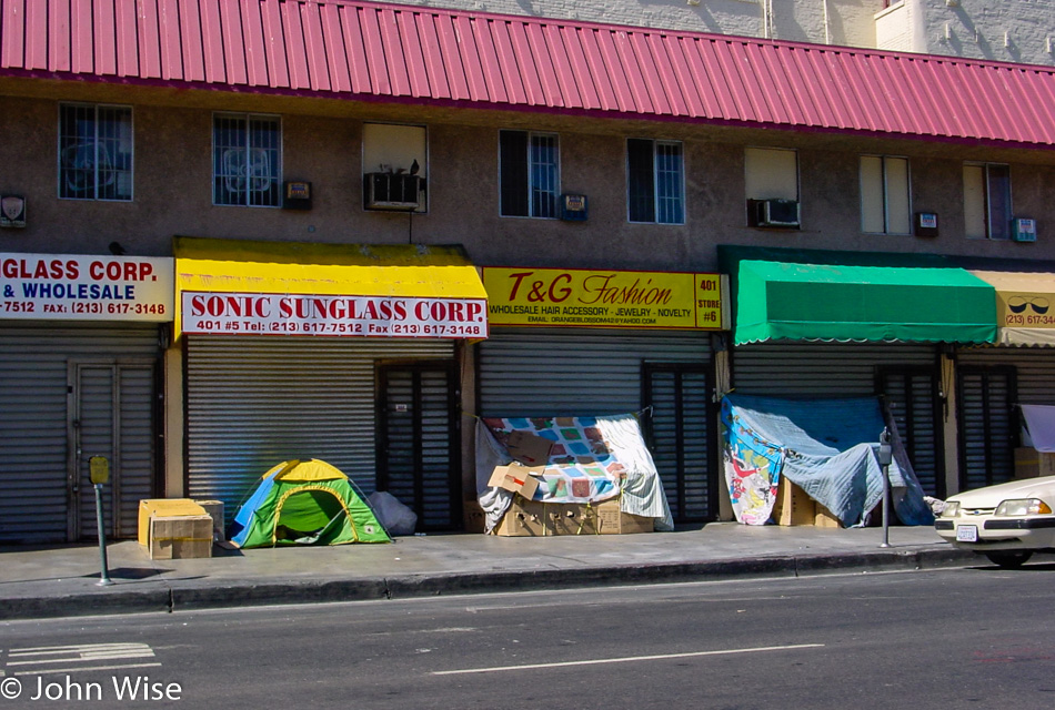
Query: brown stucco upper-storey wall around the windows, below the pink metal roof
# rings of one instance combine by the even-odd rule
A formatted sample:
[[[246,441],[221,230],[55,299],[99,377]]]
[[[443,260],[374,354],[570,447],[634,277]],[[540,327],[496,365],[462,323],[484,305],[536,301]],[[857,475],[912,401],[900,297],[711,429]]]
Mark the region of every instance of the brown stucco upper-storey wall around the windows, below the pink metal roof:
[[[462,243],[479,264],[566,267],[713,270],[721,243],[940,252],[1055,258],[1055,155],[996,153],[925,142],[864,141],[813,133],[747,132],[682,123],[519,116],[557,131],[564,192],[589,197],[585,223],[501,217],[498,131],[508,116],[473,112],[472,125],[420,110],[429,128],[429,212],[368,212],[362,206],[359,116],[285,114],[284,178],[310,180],[309,212],[213,206],[211,120],[204,108],[135,105],[134,192],[131,203],[56,196],[54,100],[6,98],[0,103],[0,191],[28,199],[29,226],[0,231],[0,251],[171,254],[173,235],[335,243]],[[371,120],[383,120],[373,114]],[[393,116],[405,121],[404,115]],[[34,126],[28,130],[27,126]],[[626,220],[626,138],[684,142],[686,223]],[[803,229],[746,226],[744,148],[795,148],[800,155]],[[857,165],[862,152],[911,159],[913,206],[935,211],[936,239],[862,234]],[[963,237],[963,160],[1012,163],[1015,213],[1038,220],[1036,244]],[[1028,163],[1025,161],[1029,161]]]

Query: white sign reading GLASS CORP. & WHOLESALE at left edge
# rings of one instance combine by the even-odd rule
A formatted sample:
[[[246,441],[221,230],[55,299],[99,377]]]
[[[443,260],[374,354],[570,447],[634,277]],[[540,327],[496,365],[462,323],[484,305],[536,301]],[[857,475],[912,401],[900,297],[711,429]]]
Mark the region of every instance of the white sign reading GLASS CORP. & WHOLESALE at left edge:
[[[0,253],[0,318],[171,321],[171,257]]]

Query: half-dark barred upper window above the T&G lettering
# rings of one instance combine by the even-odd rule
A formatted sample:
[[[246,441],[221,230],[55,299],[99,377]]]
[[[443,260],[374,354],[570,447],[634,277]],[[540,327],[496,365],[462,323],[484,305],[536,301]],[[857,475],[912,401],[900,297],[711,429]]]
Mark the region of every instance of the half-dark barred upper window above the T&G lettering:
[[[499,213],[556,217],[560,148],[556,134],[499,131]]]

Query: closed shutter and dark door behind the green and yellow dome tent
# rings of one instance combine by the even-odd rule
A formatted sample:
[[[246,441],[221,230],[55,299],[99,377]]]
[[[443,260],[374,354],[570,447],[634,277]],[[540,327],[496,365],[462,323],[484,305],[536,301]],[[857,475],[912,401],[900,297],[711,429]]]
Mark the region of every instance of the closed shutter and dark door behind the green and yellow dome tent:
[[[419,529],[461,524],[458,373],[440,339],[187,336],[188,490],[233,517],[284,460],[388,490]]]

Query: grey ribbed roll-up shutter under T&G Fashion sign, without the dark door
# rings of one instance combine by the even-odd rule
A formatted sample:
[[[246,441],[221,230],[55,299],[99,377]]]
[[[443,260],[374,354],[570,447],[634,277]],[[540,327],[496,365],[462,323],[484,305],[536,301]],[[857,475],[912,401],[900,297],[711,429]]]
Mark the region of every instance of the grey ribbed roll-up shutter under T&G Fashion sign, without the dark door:
[[[707,334],[494,328],[480,344],[480,412],[495,417],[636,412],[646,361],[710,363]]]

